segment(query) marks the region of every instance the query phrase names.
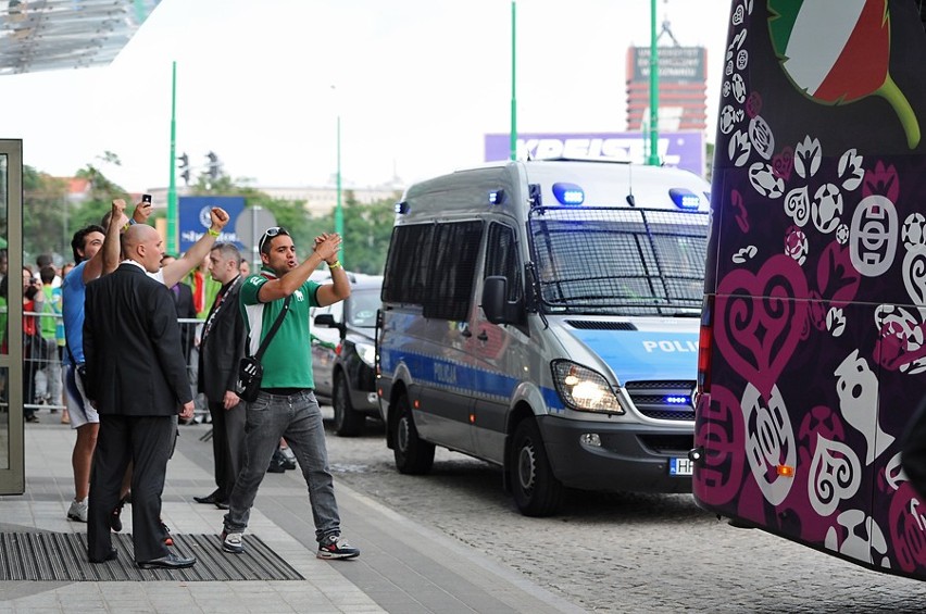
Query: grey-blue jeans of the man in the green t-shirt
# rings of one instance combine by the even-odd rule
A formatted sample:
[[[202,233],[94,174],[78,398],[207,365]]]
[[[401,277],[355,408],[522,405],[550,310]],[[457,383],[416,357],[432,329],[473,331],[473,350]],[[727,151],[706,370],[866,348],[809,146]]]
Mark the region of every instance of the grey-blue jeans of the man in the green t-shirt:
[[[245,465],[228,499],[225,530],[242,532],[248,527],[251,506],[258,488],[266,475],[271,456],[285,437],[296,454],[302,477],[309,487],[309,502],[315,522],[315,539],[340,534],[335,485],[328,472],[328,451],[325,448],[325,426],[322,409],[311,390],[289,397],[270,394],[263,390],[253,403],[248,403],[245,424]]]

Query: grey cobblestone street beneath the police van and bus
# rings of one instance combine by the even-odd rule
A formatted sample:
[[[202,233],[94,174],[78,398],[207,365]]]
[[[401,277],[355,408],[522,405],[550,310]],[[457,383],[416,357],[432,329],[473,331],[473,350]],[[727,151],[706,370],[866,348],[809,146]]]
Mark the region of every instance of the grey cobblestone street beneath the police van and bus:
[[[336,479],[592,612],[922,612],[926,586],[759,530],[734,528],[687,494],[573,492],[528,518],[501,472],[438,449],[427,476],[399,474],[381,426],[328,434]]]

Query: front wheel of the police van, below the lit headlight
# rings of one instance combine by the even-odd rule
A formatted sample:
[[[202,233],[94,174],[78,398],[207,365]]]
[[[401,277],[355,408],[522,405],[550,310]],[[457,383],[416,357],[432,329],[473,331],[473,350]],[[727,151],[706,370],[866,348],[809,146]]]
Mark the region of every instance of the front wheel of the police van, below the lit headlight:
[[[563,498],[563,485],[553,475],[540,429],[533,419],[522,421],[514,429],[509,463],[514,503],[525,516],[555,514]]]

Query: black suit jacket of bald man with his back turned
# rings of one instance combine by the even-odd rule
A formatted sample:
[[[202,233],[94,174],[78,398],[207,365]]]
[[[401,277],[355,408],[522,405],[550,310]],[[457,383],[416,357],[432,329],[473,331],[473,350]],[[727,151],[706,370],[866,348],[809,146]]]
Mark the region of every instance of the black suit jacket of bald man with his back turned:
[[[170,416],[192,400],[171,291],[124,263],[87,284],[87,396],[101,414]]]

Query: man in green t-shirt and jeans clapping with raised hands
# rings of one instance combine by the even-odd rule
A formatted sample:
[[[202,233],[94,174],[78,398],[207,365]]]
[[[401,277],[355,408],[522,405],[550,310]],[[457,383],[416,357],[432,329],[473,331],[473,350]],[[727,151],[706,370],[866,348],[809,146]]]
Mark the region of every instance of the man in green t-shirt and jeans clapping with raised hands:
[[[281,324],[261,359],[264,375],[258,398],[247,405],[245,466],[228,499],[222,531],[222,548],[226,552],[245,551],[242,536],[254,497],[280,437],[285,437],[309,487],[318,559],[352,559],[360,554],[340,536],[325,426],[313,392],[309,338],[309,308],[329,305],[350,296],[350,281],[337,260],[340,242],[336,234],[317,237],[314,250],[300,263],[289,233],[279,226],[268,228],[258,245],[263,263],[261,272],[248,277],[241,286],[239,300],[249,334],[248,355],[256,353],[284,310],[285,300],[290,299]],[[328,264],[331,284],[309,280],[322,261]]]

